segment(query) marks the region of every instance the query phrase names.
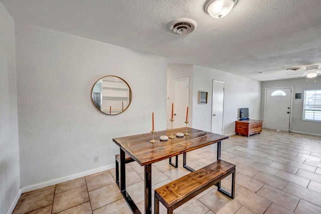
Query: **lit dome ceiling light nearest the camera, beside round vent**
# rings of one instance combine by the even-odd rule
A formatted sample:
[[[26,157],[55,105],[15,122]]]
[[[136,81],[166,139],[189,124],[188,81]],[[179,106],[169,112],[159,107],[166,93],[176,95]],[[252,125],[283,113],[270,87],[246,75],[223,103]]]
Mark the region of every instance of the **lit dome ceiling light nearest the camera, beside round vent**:
[[[221,18],[227,15],[237,0],[208,0],[205,3],[205,11],[214,18]]]

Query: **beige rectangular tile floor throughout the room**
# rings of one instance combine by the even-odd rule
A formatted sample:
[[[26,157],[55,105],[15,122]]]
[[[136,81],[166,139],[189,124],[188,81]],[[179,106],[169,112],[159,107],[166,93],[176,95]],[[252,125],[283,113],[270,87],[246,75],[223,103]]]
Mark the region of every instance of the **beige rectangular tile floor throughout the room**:
[[[216,160],[216,144],[188,153],[198,169]],[[152,165],[156,188],[189,171]],[[175,213],[321,213],[321,137],[264,129],[250,137],[222,141],[222,159],[236,164],[234,200],[211,187],[175,209]],[[144,213],[143,168],[126,164],[127,191]],[[21,195],[14,213],[131,213],[115,184],[115,169],[70,180]],[[222,181],[230,188],[231,176]],[[153,203],[153,202],[152,202]],[[162,213],[166,210],[161,205]]]

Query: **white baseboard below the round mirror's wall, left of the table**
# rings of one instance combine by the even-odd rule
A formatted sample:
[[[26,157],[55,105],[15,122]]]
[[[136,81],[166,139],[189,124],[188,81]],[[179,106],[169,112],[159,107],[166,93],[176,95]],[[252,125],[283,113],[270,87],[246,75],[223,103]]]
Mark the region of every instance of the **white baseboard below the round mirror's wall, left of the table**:
[[[30,185],[30,186],[21,187],[21,191],[22,191],[22,193],[25,193],[25,192],[32,191],[32,190],[35,190],[35,189],[44,188],[44,187],[47,187],[47,186],[51,186],[51,185],[55,185],[55,184],[58,184],[58,183],[66,182],[66,181],[69,181],[69,180],[73,180],[73,179],[76,179],[76,178],[79,178],[79,177],[84,177],[84,176],[87,176],[87,175],[90,175],[90,174],[94,174],[94,173],[97,173],[97,172],[105,171],[105,170],[108,170],[108,169],[111,169],[111,168],[114,168],[114,167],[115,167],[115,164],[110,164],[110,165],[102,166],[102,167],[99,167],[99,168],[94,168],[94,169],[91,169],[91,170],[88,170],[88,171],[83,171],[83,172],[80,172],[80,173],[77,173],[77,174],[72,174],[72,175],[68,175],[68,176],[65,176],[65,177],[60,177],[60,178],[57,178],[57,179],[49,180],[49,181],[46,181],[46,182],[42,182],[42,183],[37,183],[37,184],[34,184],[34,185]]]

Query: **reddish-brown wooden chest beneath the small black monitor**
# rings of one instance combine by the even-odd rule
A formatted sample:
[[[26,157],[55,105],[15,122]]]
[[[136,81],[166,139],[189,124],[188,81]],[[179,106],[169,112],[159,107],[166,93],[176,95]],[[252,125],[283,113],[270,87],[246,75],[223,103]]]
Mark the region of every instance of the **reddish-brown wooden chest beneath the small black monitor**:
[[[235,133],[250,136],[251,134],[261,133],[262,120],[248,119],[235,121]]]

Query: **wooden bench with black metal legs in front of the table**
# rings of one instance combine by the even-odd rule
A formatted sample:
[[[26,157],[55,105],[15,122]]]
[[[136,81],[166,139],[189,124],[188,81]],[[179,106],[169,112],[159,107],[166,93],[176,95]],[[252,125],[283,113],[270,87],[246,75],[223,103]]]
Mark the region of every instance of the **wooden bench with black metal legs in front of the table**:
[[[221,188],[221,180],[231,173],[232,189],[231,193],[228,193]],[[159,213],[159,201],[167,208],[167,213],[171,214],[175,208],[214,184],[218,186],[220,192],[233,199],[235,195],[235,165],[224,160],[217,160],[199,170],[156,188],[154,213]]]

